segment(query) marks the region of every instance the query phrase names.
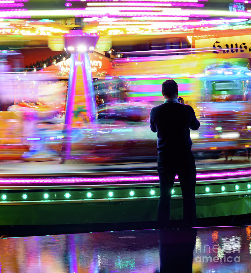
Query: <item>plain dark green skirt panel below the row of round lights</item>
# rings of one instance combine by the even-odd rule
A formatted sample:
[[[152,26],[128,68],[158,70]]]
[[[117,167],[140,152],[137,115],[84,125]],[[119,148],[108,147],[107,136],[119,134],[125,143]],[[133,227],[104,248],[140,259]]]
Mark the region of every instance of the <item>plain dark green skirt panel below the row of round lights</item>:
[[[157,220],[158,199],[1,205],[0,225],[125,223]],[[251,213],[251,196],[196,198],[197,217]],[[182,219],[182,199],[172,199],[171,220]]]

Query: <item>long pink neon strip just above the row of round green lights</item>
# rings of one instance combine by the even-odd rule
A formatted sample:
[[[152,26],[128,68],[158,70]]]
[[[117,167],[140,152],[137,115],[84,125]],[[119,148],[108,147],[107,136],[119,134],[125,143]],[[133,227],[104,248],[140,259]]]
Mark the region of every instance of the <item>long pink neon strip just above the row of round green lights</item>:
[[[208,174],[197,174],[196,178],[214,178],[214,177],[233,177],[233,176],[242,176],[250,175],[251,170],[240,170],[232,172],[223,172],[223,173],[208,173]],[[175,179],[178,179],[178,176],[175,176]],[[30,179],[1,179],[0,184],[31,184],[31,183],[50,183],[50,184],[62,184],[62,183],[102,183],[102,182],[133,182],[133,181],[156,181],[159,180],[158,175],[151,176],[127,176],[127,177],[93,177],[93,178],[30,178]]]

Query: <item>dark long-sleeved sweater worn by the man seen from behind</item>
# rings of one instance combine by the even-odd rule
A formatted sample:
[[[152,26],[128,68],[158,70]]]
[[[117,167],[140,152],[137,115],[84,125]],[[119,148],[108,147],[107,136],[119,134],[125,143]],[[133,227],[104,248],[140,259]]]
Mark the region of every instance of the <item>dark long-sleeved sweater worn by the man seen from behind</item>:
[[[191,106],[181,103],[162,103],[153,107],[150,113],[150,127],[158,136],[158,153],[177,150],[191,150],[190,130],[199,129]]]

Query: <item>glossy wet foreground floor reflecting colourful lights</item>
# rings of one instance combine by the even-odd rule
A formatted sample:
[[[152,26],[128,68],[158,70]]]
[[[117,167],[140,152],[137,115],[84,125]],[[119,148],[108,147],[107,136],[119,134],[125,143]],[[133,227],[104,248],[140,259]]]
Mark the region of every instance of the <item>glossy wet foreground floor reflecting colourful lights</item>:
[[[0,272],[251,272],[251,226],[0,239]]]

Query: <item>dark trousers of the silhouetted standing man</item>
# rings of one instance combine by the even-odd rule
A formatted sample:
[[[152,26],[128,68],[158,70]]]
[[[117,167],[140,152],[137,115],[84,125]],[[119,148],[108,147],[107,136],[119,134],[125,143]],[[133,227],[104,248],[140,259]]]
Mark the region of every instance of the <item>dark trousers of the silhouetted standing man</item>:
[[[185,227],[196,226],[195,184],[196,167],[191,150],[172,150],[158,154],[159,172],[159,228],[169,227],[170,201],[175,175],[178,174],[183,197]]]

